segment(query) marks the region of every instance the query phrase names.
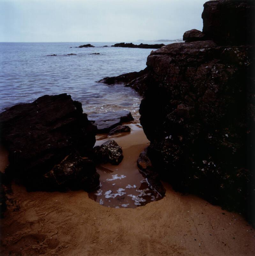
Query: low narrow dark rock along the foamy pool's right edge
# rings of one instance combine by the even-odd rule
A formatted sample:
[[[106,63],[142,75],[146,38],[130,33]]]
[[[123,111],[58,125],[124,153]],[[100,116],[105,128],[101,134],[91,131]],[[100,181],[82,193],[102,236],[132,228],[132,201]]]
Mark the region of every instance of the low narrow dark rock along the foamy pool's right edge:
[[[145,174],[150,187],[156,190],[161,196],[165,196],[166,190],[160,181],[158,172],[154,170],[151,160],[147,155],[147,148],[141,152],[137,160],[137,166],[140,172]]]

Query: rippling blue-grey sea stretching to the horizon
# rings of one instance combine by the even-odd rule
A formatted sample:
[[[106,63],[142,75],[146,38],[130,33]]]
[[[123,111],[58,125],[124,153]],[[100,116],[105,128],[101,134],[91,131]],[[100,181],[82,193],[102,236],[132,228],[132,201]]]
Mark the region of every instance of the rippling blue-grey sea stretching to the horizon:
[[[0,111],[45,94],[67,93],[82,103],[87,114],[128,109],[138,118],[141,98],[136,92],[97,81],[144,69],[154,49],[103,47],[116,42],[89,42],[95,47],[74,48],[87,43],[0,43]],[[100,54],[91,55],[94,52]],[[70,53],[77,55],[66,56]]]

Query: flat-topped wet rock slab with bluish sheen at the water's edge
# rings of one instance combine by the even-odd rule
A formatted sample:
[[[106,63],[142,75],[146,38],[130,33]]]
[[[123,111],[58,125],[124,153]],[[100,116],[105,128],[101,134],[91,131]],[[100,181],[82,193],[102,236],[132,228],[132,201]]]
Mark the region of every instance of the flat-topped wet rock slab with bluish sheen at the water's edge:
[[[88,116],[89,120],[94,122],[97,127],[97,133],[109,132],[118,125],[124,122],[129,122],[133,120],[130,111],[119,110],[119,111],[109,111],[107,113],[98,113]]]

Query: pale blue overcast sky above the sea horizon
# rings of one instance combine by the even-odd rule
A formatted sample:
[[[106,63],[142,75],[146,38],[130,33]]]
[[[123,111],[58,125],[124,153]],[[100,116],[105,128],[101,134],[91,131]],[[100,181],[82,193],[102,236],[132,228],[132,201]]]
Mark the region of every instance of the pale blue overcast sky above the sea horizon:
[[[134,42],[202,30],[206,0],[0,0],[0,42]]]

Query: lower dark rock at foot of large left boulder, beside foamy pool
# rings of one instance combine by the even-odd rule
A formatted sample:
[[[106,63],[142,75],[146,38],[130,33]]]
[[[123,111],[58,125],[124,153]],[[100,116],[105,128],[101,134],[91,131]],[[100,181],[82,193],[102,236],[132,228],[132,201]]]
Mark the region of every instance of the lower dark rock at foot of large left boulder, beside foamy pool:
[[[88,158],[81,158],[78,152],[71,153],[60,164],[55,165],[52,170],[39,177],[33,183],[33,190],[62,191],[67,189],[84,189],[87,192],[95,190],[99,182],[99,174],[96,172],[95,164]]]

